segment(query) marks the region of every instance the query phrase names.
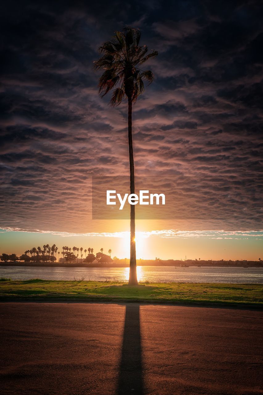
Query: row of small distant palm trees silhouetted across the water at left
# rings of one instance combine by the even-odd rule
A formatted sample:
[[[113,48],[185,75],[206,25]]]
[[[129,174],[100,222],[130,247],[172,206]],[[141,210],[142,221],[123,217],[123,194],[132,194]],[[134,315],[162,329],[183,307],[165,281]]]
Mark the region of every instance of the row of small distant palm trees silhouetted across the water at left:
[[[61,255],[64,258],[66,254],[71,253],[72,250],[72,254],[74,255],[75,259],[78,259],[80,257],[81,259],[81,263],[83,260],[83,247],[68,247],[68,246],[63,246],[62,247],[62,252]],[[103,253],[103,248],[100,249],[101,254]],[[80,252],[80,253],[79,253]],[[85,258],[87,257],[87,252],[88,254],[93,254],[94,249],[93,248],[88,248],[84,250],[85,252]],[[111,256],[111,249],[109,249],[109,256]],[[58,251],[58,247],[53,244],[52,246],[50,246],[49,244],[43,245],[43,249],[41,247],[33,247],[31,248],[31,250],[26,250],[24,252],[24,256],[25,258],[28,257],[28,254],[30,254],[30,258],[32,258],[32,260],[35,261],[42,261],[42,262],[50,262],[50,261],[56,261],[56,254],[58,254],[58,260],[59,260],[59,256],[60,256],[60,252]],[[72,256],[73,256],[72,255]],[[23,260],[23,258],[22,258]]]

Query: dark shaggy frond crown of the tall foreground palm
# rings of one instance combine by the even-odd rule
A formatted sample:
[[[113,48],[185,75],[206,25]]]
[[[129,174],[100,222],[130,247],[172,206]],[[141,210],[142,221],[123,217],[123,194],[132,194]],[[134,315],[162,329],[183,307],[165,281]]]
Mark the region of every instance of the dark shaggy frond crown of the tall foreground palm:
[[[99,48],[103,56],[94,62],[94,68],[105,70],[99,80],[99,93],[103,97],[115,88],[110,101],[112,106],[119,105],[125,95],[135,103],[145,90],[143,80],[149,84],[154,80],[152,71],[136,67],[158,55],[157,51],[146,55],[148,48],[139,46],[140,38],[138,29],[125,27]]]

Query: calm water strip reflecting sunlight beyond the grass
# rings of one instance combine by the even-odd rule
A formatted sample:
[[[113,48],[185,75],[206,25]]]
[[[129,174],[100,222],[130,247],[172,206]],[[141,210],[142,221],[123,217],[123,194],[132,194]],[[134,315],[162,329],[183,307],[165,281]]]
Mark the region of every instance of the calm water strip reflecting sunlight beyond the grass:
[[[232,284],[263,284],[261,267],[174,267],[138,266],[138,280],[141,282],[217,282]],[[128,267],[30,267],[1,266],[0,277],[12,280],[74,280],[127,281]]]

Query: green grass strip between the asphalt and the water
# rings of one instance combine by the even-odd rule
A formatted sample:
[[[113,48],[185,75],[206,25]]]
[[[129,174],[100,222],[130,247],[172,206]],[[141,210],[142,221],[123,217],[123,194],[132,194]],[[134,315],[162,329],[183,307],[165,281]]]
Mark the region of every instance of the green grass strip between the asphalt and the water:
[[[152,301],[263,305],[262,285],[168,283],[128,286],[121,282],[12,281],[0,278],[0,301]]]

